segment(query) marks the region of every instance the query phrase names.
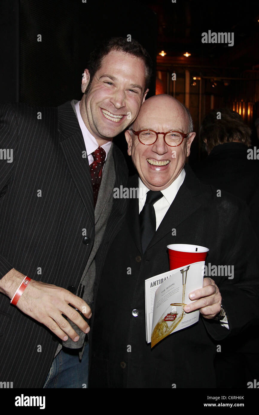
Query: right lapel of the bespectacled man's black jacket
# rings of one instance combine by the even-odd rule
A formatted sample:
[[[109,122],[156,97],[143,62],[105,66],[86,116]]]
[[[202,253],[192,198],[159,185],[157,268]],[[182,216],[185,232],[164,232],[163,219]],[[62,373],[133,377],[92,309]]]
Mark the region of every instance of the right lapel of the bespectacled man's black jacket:
[[[147,250],[157,244],[165,235],[172,232],[172,228],[176,229],[181,222],[185,221],[201,206],[196,198],[201,193],[200,182],[187,164],[185,164],[184,169],[186,173],[184,182],[155,232]]]

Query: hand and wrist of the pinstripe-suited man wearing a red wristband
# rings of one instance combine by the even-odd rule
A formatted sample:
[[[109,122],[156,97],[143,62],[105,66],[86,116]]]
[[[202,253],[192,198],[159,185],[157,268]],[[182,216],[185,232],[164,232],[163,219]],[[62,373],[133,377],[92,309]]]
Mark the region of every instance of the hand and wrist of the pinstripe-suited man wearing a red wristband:
[[[0,291],[11,299],[24,277],[25,275],[19,271],[12,269],[0,280]],[[85,333],[89,332],[90,327],[79,312],[69,304],[78,308],[86,318],[91,317],[89,305],[77,295],[70,293],[65,288],[31,280],[19,298],[16,307],[47,326],[61,340],[66,341],[68,335],[76,342],[79,336],[62,314],[69,317]]]

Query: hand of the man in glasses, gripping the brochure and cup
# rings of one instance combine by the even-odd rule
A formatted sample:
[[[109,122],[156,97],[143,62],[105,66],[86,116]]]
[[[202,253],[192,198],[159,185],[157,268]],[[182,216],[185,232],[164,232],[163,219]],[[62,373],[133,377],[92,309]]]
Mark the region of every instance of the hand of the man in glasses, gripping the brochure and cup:
[[[208,319],[214,318],[220,312],[221,294],[211,278],[204,278],[203,288],[192,291],[189,298],[196,301],[186,305],[183,308],[185,312],[200,310],[200,314]]]

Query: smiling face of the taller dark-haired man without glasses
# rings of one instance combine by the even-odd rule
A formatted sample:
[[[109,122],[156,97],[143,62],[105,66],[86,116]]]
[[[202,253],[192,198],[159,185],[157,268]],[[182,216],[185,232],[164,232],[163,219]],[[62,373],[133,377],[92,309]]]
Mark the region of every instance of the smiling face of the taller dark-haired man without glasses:
[[[82,80],[83,93],[89,81],[86,69]],[[80,103],[81,117],[99,145],[115,137],[136,119],[148,93],[144,88],[142,59],[122,51],[111,51],[104,56],[89,92],[83,95]]]

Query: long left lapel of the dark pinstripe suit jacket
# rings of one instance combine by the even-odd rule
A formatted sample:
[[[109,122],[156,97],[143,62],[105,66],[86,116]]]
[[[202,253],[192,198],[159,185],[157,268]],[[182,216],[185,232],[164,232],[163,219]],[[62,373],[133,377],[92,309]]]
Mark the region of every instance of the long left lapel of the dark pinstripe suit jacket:
[[[70,102],[58,107],[58,131],[59,145],[94,227],[94,200],[89,163],[87,156],[82,157],[82,152],[86,150],[84,139]]]

